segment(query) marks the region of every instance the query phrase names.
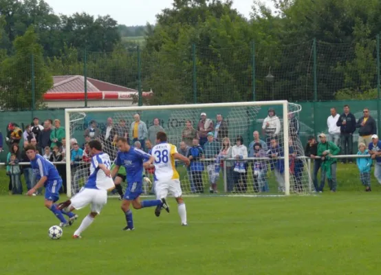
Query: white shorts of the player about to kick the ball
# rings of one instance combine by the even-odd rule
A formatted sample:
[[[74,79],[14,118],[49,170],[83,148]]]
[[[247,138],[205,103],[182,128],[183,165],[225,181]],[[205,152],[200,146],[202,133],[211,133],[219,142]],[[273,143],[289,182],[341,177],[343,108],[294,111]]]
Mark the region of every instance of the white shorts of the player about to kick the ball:
[[[107,190],[83,188],[71,201],[72,204],[69,207],[72,206],[76,210],[79,210],[91,204],[91,212],[100,214],[100,210],[107,203]]]

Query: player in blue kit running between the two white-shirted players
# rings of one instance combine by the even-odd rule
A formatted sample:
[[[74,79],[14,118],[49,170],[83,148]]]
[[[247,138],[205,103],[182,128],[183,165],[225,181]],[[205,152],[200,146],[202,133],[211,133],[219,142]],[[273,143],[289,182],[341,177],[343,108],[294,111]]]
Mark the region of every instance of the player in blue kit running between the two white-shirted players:
[[[149,167],[155,161],[155,157],[152,157],[137,148],[129,146],[124,137],[118,137],[116,144],[119,152],[116,156],[115,167],[111,171],[111,177],[115,177],[120,166],[124,166],[124,168],[126,168],[127,190],[124,193],[121,208],[127,221],[127,226],[123,228],[123,230],[129,231],[134,229],[130,204],[132,204],[135,209],[158,206],[169,212],[169,208],[166,205],[165,198],[140,201],[140,194],[143,192],[142,174],[144,167]]]

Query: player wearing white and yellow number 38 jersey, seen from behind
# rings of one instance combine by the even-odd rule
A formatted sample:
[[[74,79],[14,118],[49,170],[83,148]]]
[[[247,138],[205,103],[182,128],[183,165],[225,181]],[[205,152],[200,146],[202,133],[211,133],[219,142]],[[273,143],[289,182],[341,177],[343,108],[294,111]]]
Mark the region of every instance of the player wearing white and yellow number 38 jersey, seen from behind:
[[[180,187],[179,173],[175,168],[175,159],[179,159],[186,166],[189,166],[190,160],[184,155],[177,153],[177,148],[167,142],[166,133],[158,132],[156,134],[156,145],[152,148],[152,155],[155,157],[155,188],[157,199],[164,200],[170,192],[177,201],[177,210],[179,212],[182,225],[186,226],[186,208],[182,199],[182,188]],[[160,216],[161,208],[155,209],[156,217]]]

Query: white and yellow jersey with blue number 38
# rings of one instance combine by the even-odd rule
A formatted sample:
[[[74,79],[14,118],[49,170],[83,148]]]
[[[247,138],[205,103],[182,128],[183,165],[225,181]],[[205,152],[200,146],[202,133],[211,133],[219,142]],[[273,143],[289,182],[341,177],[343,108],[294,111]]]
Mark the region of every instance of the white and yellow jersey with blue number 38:
[[[173,155],[177,153],[175,145],[162,142],[153,146],[151,153],[155,157],[155,162],[153,162],[155,165],[155,181],[179,179],[173,158]]]

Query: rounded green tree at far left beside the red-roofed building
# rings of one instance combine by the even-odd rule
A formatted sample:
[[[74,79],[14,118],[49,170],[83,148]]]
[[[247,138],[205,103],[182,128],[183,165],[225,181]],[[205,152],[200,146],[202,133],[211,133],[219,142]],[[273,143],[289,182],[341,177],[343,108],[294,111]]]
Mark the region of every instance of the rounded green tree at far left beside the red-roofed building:
[[[34,90],[35,104],[39,104],[43,94],[53,85],[52,76],[43,60],[43,48],[38,43],[34,28],[28,28],[23,36],[14,40],[14,50],[14,56],[1,62],[1,105],[3,109],[32,109],[32,91]]]

